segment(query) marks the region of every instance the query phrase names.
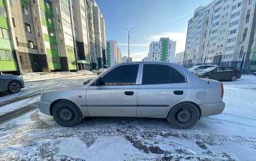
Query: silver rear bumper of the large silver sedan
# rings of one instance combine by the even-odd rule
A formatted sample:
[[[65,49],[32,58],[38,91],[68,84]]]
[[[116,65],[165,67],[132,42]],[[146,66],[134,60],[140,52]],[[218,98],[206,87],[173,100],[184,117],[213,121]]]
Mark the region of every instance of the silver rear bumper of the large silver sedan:
[[[201,109],[201,117],[212,116],[215,114],[222,113],[225,108],[225,103],[218,102],[218,103],[200,104],[199,107]]]

